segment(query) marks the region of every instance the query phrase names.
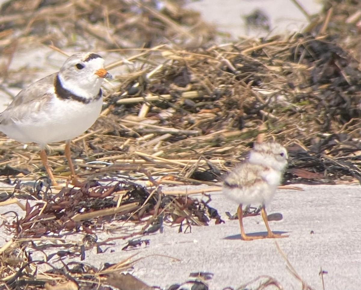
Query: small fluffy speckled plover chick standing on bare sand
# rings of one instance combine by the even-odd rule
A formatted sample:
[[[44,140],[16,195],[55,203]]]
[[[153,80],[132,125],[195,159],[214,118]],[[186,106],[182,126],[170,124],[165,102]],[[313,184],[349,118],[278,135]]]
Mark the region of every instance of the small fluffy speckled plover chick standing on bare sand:
[[[272,233],[266,213],[266,204],[271,201],[281,182],[287,159],[287,150],[279,143],[255,143],[248,159],[224,179],[223,193],[239,203],[237,215],[243,240],[288,237]],[[242,205],[250,204],[261,204],[261,215],[268,232],[266,236],[249,237],[245,234]]]

